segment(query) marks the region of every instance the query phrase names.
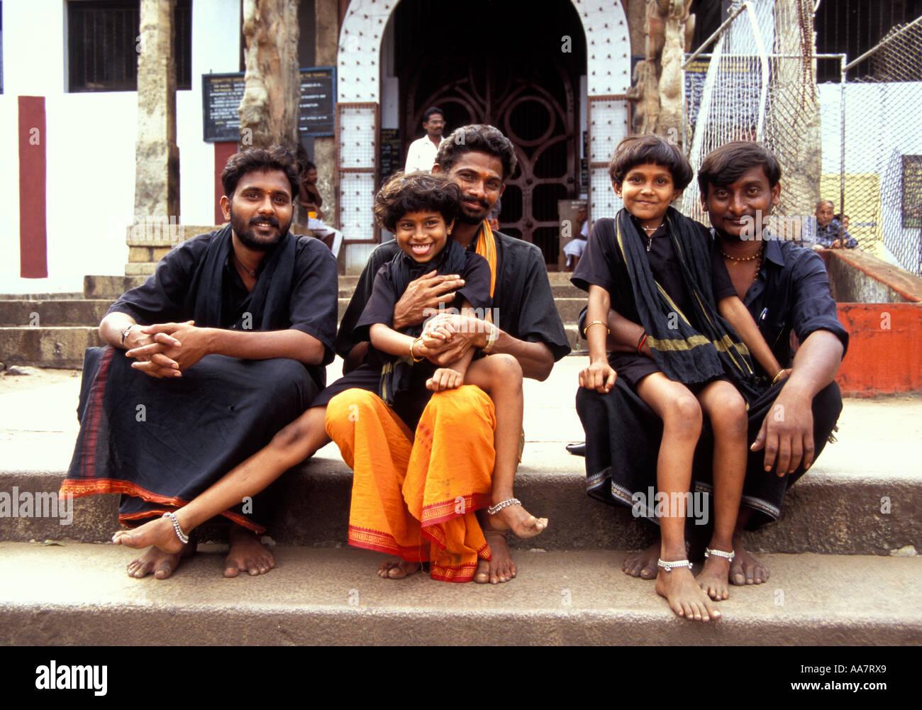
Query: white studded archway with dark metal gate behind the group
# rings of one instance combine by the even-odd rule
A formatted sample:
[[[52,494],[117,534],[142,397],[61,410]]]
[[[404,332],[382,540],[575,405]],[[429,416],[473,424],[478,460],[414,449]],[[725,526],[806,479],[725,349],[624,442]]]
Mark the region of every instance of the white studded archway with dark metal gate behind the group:
[[[400,119],[392,125],[400,125],[401,148],[406,151],[409,140],[420,135],[420,113],[429,99],[445,102],[450,125],[491,116],[519,145],[520,157],[525,159],[523,170],[507,187],[501,224],[538,243],[550,262],[551,253],[556,255],[559,229],[557,198],[574,194],[576,186],[568,179],[575,181],[578,175],[579,94],[573,71],[585,76],[590,219],[613,215],[618,207],[607,167],[614,146],[628,131],[624,92],[631,83],[631,51],[621,0],[548,4],[471,0],[464,5],[351,0],[340,29],[337,56],[337,217],[347,243],[369,243],[370,249],[374,241],[372,199],[379,177],[384,30],[396,12],[412,15],[414,8],[425,12],[420,10],[424,6],[434,6],[441,14],[420,24],[419,32],[398,38],[395,47],[400,52],[420,43],[427,49],[416,57],[423,66],[416,67],[419,76],[410,108],[409,83],[406,77],[400,81]],[[536,39],[536,27],[545,28],[543,43]],[[561,59],[567,53],[571,56]],[[582,58],[571,64],[573,55]],[[447,61],[452,56],[455,63]],[[502,62],[517,63],[517,71],[507,72]],[[492,67],[491,77],[485,76],[484,66]],[[435,69],[442,74],[432,78]],[[511,74],[510,81],[504,82],[503,74]],[[501,106],[502,117],[492,118]],[[550,134],[545,137],[549,125]],[[370,140],[369,136],[374,137]],[[554,138],[560,139],[551,143]]]

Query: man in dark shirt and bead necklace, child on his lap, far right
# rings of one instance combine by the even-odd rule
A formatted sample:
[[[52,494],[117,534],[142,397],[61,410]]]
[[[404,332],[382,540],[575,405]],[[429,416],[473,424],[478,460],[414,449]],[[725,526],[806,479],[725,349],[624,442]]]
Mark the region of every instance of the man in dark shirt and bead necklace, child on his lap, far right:
[[[698,171],[703,207],[714,227],[715,247],[737,291],[759,326],[786,379],[769,386],[749,410],[750,453],[742,503],[733,536],[729,581],[759,585],[765,564],[745,550],[741,533],[778,518],[786,490],[810,468],[833,432],[842,410],[835,375],[848,333],[839,322],[829,277],[819,254],[779,240],[762,229],[781,194],[781,167],[758,143],[736,141],[715,148]],[[756,233],[758,226],[762,229]],[[717,262],[719,265],[719,262]],[[580,329],[584,325],[581,318]],[[609,312],[608,348],[638,351],[642,325]],[[794,333],[797,353],[790,347]],[[650,356],[648,348],[640,352]],[[765,375],[760,370],[759,373]],[[771,380],[771,373],[768,379]],[[632,496],[656,486],[656,455],[662,423],[621,378],[607,394],[581,388],[576,411],[585,429],[607,435],[586,446],[589,495],[605,503],[631,505]],[[713,491],[713,434],[705,424],[692,478],[696,491]],[[659,542],[627,556],[623,571],[656,579]]]

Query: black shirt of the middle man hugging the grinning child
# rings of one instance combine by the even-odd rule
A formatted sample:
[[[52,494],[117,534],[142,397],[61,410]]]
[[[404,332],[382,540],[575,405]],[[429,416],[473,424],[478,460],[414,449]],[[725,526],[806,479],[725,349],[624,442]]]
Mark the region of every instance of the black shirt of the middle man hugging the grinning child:
[[[510,336],[526,342],[544,343],[560,360],[570,352],[570,341],[550,290],[547,266],[541,250],[508,234],[494,231],[496,238],[496,290],[493,313],[496,325]],[[476,242],[475,242],[476,243]],[[474,251],[472,243],[468,251]],[[343,314],[337,334],[337,353],[345,358],[349,350],[367,340],[367,333],[356,330],[365,304],[372,297],[372,284],[378,270],[400,251],[396,241],[376,247],[361,272],[349,307]]]

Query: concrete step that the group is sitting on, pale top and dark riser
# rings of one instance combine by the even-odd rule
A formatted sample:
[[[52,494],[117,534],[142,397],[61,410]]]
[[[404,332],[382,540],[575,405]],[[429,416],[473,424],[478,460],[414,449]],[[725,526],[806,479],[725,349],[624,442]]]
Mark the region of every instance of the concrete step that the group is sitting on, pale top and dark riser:
[[[545,382],[526,380],[526,449],[516,493],[550,527],[521,547],[547,550],[639,548],[651,532],[627,508],[585,495],[585,460],[563,446],[583,438],[574,411],[585,357],[558,362]],[[327,368],[334,381],[341,362]],[[77,373],[0,378],[0,491],[56,493],[77,437]],[[789,492],[782,519],[751,534],[753,549],[889,555],[922,550],[922,397],[846,399],[839,441]],[[272,535],[285,544],[330,546],[346,539],[351,474],[334,444],[278,481]],[[54,517],[0,516],[0,540],[100,541],[118,527],[116,496],[73,501],[72,524]],[[66,506],[58,513],[66,512]],[[911,548],[910,548],[911,546]]]

